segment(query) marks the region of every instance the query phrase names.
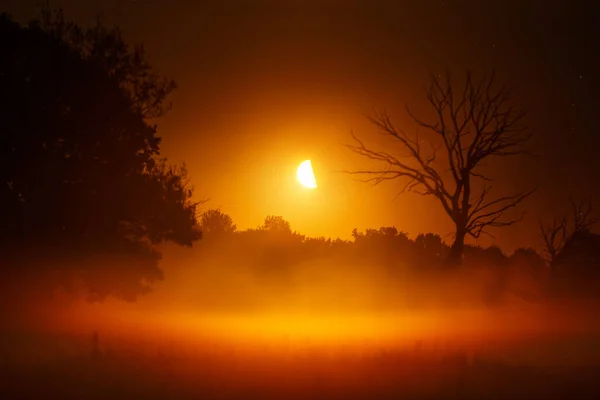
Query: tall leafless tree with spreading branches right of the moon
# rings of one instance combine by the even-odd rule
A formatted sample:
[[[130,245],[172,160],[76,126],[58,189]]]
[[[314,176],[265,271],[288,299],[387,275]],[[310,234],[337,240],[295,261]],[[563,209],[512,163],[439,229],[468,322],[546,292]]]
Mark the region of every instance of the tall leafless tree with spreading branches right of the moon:
[[[401,193],[412,191],[435,196],[455,224],[448,262],[458,264],[467,235],[478,238],[482,233],[489,233],[487,228],[509,226],[522,218],[509,219],[504,214],[533,191],[492,198],[491,179],[480,171],[480,167],[491,157],[525,153],[523,145],[531,133],[521,125],[525,112],[509,104],[509,91],[503,86],[496,88],[493,73],[475,80],[467,71],[464,86],[458,90],[455,90],[449,73],[444,77],[432,76],[426,92],[435,112],[435,122],[427,123],[408,107],[406,110],[418,127],[432,132],[441,144],[436,146],[430,142],[431,151],[426,151],[418,131],[411,137],[397,129],[385,112],[375,114],[369,120],[377,132],[394,139],[405,153],[376,151],[353,133],[355,143],[348,147],[361,156],[385,164],[385,168],[349,173],[367,176],[364,181],[373,184],[404,179],[406,183]],[[445,160],[438,159],[440,150],[445,153]],[[443,165],[445,163],[448,168]],[[474,178],[486,182],[478,193],[474,193]]]

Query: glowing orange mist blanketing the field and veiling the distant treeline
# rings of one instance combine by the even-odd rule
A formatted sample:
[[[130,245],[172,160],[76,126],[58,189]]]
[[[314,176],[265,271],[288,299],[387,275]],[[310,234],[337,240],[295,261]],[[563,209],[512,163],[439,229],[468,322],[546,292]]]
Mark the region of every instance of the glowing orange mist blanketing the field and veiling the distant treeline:
[[[597,301],[550,296],[544,274],[514,257],[445,270],[421,262],[418,240],[394,234],[404,244],[389,247],[377,232],[332,243],[242,231],[166,246],[164,280],[135,301],[22,285],[3,365],[39,378],[30,391],[5,388],[64,394],[46,380],[51,368],[98,398],[506,398],[518,380],[546,398],[597,393]]]

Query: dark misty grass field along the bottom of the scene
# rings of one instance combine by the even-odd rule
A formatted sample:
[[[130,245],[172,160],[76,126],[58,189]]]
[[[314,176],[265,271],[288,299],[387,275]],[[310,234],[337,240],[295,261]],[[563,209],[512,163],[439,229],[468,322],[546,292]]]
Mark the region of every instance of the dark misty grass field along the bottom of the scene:
[[[310,341],[117,333],[4,334],[2,399],[582,399],[600,398],[600,366],[519,360],[533,342],[594,350],[587,338],[529,343]],[[545,349],[542,349],[544,347]],[[527,349],[527,350],[525,350]],[[567,350],[567,353],[572,353]],[[539,358],[538,358],[539,359]]]

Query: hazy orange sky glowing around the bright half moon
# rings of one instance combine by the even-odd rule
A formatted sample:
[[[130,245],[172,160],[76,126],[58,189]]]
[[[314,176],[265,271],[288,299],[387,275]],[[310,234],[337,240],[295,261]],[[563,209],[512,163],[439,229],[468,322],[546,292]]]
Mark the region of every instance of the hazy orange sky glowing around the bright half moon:
[[[24,20],[39,0],[0,0]],[[199,197],[240,228],[282,215],[310,235],[395,225],[416,234],[452,229],[434,199],[401,186],[371,188],[335,172],[360,160],[342,144],[369,136],[363,114],[385,107],[412,129],[404,105],[422,108],[428,71],[495,67],[531,109],[536,156],[495,168],[497,189],[538,187],[526,219],[494,231],[498,244],[538,244],[540,217],[569,193],[598,192],[598,6],[579,1],[65,0],[81,24],[103,13],[143,41],[175,78],[173,110],[159,121],[164,155],[185,161]],[[310,158],[320,188],[298,187]],[[485,244],[489,244],[486,239]]]

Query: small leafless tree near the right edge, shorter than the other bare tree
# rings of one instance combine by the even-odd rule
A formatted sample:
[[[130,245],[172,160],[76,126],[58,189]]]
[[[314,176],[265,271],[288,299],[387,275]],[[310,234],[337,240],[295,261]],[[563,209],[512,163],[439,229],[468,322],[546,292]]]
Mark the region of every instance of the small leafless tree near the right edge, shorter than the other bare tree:
[[[567,217],[554,219],[551,224],[544,225],[540,221],[540,233],[544,241],[544,253],[546,261],[550,265],[554,263],[554,260],[558,254],[562,251],[565,244],[573,238],[574,235],[589,231],[600,218],[592,217],[592,202],[590,199],[581,200],[575,202],[573,199],[569,200],[571,203],[572,222],[569,227],[569,221]]]

